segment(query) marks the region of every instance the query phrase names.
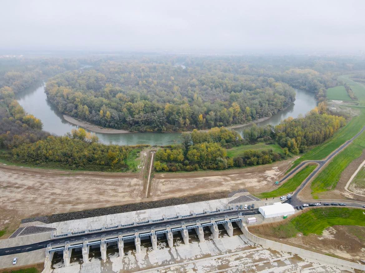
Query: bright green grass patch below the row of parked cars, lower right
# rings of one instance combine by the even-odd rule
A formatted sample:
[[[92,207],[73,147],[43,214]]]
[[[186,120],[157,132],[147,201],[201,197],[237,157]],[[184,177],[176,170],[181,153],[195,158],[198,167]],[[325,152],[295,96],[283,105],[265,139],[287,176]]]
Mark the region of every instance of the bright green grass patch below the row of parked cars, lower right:
[[[362,209],[347,207],[321,207],[310,209],[289,222],[273,228],[277,238],[289,238],[301,232],[303,235],[322,234],[327,227],[334,225],[365,226]]]

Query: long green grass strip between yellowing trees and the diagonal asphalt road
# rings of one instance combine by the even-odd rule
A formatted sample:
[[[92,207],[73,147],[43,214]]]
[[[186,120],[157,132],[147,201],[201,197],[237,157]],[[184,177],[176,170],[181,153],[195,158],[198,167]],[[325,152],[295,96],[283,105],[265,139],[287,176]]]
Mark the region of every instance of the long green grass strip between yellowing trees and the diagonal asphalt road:
[[[292,170],[294,167],[305,160],[321,160],[326,158],[334,150],[336,150],[343,143],[351,139],[356,135],[361,128],[365,125],[365,109],[363,107],[357,107],[360,110],[360,114],[352,118],[345,127],[336,132],[333,137],[326,142],[319,144],[312,148],[307,153],[303,154],[300,158],[294,161],[293,166],[288,170]]]

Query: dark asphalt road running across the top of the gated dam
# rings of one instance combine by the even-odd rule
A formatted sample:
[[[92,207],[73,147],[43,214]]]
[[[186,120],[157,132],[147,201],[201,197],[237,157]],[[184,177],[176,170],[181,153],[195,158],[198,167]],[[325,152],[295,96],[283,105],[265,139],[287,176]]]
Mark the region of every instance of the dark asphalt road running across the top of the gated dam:
[[[179,226],[179,225],[181,225],[182,222],[184,222],[185,225],[192,225],[192,224],[195,224],[197,220],[205,221],[205,220],[210,220],[212,217],[218,218],[218,217],[222,217],[224,215],[227,215],[228,217],[232,217],[232,216],[238,217],[241,213],[242,213],[242,215],[259,214],[258,209],[245,210],[245,211],[233,210],[233,211],[225,211],[224,213],[199,215],[197,217],[192,217],[192,218],[174,219],[174,220],[168,221],[168,222],[152,223],[152,224],[137,226],[137,227],[136,226],[125,227],[122,229],[107,230],[107,231],[96,232],[96,233],[91,233],[91,234],[80,234],[80,235],[70,236],[70,237],[66,237],[66,238],[64,237],[64,238],[51,239],[51,240],[38,242],[38,243],[34,243],[34,244],[29,244],[29,245],[2,248],[2,249],[0,249],[0,256],[42,249],[42,248],[46,248],[48,244],[53,244],[53,245],[63,244],[63,243],[65,243],[65,241],[70,241],[70,243],[73,243],[73,242],[77,242],[77,241],[82,242],[84,240],[84,238],[88,238],[88,240],[100,239],[102,235],[118,236],[119,232],[122,232],[122,233],[133,232],[134,233],[136,230],[138,230],[139,233],[145,233],[145,232],[150,232],[151,228],[154,228],[154,229],[164,228],[164,227],[166,227],[166,225],[170,225],[170,227]]]

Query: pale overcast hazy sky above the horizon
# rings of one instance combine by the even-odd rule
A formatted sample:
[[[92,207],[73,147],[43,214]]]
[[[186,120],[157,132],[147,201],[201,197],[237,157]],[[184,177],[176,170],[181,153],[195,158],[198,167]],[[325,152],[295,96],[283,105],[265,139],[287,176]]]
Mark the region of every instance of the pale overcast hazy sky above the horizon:
[[[1,50],[365,50],[365,1],[1,0]]]

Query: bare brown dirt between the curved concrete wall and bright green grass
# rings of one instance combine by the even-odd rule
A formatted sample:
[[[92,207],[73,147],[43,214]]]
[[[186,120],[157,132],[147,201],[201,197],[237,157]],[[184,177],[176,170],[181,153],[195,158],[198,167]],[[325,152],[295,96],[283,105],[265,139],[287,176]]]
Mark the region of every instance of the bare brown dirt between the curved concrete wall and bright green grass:
[[[297,246],[322,254],[332,254],[349,261],[365,258],[365,227],[361,226],[332,226],[325,229],[322,235],[310,234],[303,236],[297,234],[293,238],[274,238],[270,236],[272,225],[262,225],[250,228],[251,232],[278,241],[283,244]]]

